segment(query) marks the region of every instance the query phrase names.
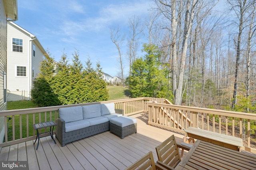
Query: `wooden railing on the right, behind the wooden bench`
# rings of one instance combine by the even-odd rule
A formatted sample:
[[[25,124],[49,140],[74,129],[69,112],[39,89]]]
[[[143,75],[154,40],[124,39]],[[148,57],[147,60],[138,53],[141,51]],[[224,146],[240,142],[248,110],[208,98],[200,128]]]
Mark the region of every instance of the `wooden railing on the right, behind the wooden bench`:
[[[251,122],[255,124],[256,114],[156,102],[147,103],[149,125],[156,125],[180,133],[185,133],[184,129],[192,126],[240,137],[244,141],[242,150],[256,153],[256,136],[250,128]]]

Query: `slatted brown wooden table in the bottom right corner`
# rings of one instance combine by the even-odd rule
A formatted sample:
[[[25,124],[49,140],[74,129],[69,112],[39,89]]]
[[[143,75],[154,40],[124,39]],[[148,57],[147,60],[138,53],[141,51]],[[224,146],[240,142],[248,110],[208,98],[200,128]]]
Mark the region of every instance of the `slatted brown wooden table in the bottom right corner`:
[[[178,170],[256,170],[256,156],[197,140]]]

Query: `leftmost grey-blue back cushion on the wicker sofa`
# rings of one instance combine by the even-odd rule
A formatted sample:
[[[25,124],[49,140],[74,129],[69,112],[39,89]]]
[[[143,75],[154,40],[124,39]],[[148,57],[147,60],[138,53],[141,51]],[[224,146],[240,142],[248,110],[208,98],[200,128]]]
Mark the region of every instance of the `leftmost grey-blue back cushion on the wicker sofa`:
[[[59,117],[66,123],[83,119],[82,106],[65,107],[59,109]]]

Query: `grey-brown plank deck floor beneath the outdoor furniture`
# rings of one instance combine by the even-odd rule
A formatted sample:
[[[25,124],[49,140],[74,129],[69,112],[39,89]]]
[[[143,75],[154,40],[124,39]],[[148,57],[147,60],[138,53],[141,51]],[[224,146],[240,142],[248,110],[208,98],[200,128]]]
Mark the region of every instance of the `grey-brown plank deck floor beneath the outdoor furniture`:
[[[177,142],[183,141],[183,134],[147,125],[146,113],[131,117],[137,118],[138,132],[124,139],[106,131],[61,147],[57,139],[54,144],[49,136],[40,139],[38,150],[34,141],[0,148],[0,160],[26,160],[29,170],[123,170],[149,151],[156,162],[156,146],[170,135],[174,134]]]

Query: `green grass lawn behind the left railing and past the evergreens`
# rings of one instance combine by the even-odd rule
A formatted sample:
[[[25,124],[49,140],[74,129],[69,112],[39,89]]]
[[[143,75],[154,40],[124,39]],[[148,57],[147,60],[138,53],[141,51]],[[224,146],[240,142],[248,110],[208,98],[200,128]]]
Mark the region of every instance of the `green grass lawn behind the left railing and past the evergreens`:
[[[119,99],[128,99],[130,96],[129,90],[124,87],[120,86],[107,86],[109,98],[108,100],[119,100]],[[36,106],[31,100],[23,100],[23,101],[16,101],[16,102],[7,102],[7,109],[8,110],[14,110],[14,109],[27,109],[27,108],[35,108]],[[45,120],[45,113],[35,113],[35,123],[39,123],[39,115],[41,117],[41,122]],[[57,116],[58,117],[58,116]],[[12,118],[12,117],[11,117]],[[26,134],[26,115],[22,115],[22,138],[25,138],[27,136]],[[8,120],[7,117],[7,123],[8,123],[8,141],[12,141],[12,120]],[[46,114],[46,120],[50,121],[50,113],[47,112]],[[55,120],[55,113],[52,113],[52,120]],[[15,121],[15,139],[20,139],[20,115],[14,116]],[[28,134],[29,136],[33,136],[33,114],[28,115]],[[47,129],[49,131],[49,129]],[[44,129],[41,129],[41,133],[44,132]]]

